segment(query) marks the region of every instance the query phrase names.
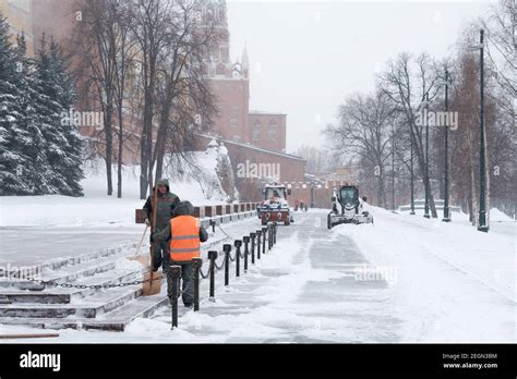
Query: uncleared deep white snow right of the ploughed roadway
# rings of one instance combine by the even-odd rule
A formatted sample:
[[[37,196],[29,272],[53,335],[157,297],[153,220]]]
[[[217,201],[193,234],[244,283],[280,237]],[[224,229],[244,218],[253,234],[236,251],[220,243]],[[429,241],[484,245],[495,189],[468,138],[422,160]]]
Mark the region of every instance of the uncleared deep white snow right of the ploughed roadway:
[[[333,232],[350,236],[373,265],[396,272],[407,341],[517,341],[516,222],[494,209],[491,230],[482,233],[466,215],[444,223],[421,212],[369,208],[374,227]]]

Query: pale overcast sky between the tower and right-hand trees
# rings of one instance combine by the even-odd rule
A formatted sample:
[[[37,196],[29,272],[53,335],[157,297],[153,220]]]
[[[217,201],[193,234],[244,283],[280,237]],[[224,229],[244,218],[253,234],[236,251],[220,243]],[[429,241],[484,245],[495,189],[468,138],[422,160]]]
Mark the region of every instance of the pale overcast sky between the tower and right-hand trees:
[[[371,91],[401,51],[443,58],[490,1],[227,0],[231,59],[244,45],[250,108],[287,113],[287,150],[322,146],[347,95]]]

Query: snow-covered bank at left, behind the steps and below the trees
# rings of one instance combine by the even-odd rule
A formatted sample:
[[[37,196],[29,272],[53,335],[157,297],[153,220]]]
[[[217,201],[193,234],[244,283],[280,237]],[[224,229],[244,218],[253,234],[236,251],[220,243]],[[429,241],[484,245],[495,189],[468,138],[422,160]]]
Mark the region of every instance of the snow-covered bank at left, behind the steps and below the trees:
[[[183,179],[169,179],[170,190],[192,204],[226,203],[227,195],[216,173],[226,148],[212,147],[194,155],[199,169],[191,169]],[[223,157],[224,158],[224,157]],[[84,197],[60,195],[0,197],[0,227],[132,227],[140,199],[140,167],[124,167],[122,198],[117,198],[117,170],[113,167],[113,195],[106,195],[106,168],[98,161],[85,169],[81,182]]]

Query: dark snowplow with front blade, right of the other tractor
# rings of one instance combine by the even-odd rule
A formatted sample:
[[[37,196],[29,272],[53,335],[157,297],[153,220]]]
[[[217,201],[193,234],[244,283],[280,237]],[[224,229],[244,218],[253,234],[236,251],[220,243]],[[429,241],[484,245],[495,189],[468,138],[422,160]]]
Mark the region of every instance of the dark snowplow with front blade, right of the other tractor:
[[[373,223],[373,216],[363,209],[366,197],[359,198],[357,185],[342,185],[334,191],[333,207],[327,216],[327,228],[333,229],[340,223]]]

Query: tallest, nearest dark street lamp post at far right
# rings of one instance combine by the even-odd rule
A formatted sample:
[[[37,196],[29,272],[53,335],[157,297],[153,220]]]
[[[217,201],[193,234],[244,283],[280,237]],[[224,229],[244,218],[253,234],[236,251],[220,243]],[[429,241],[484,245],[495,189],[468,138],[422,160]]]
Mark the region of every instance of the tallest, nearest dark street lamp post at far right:
[[[479,44],[471,49],[479,50],[479,97],[480,97],[480,123],[479,123],[479,216],[478,230],[488,232],[486,223],[486,159],[485,159],[485,130],[484,130],[484,30],[480,30]]]

